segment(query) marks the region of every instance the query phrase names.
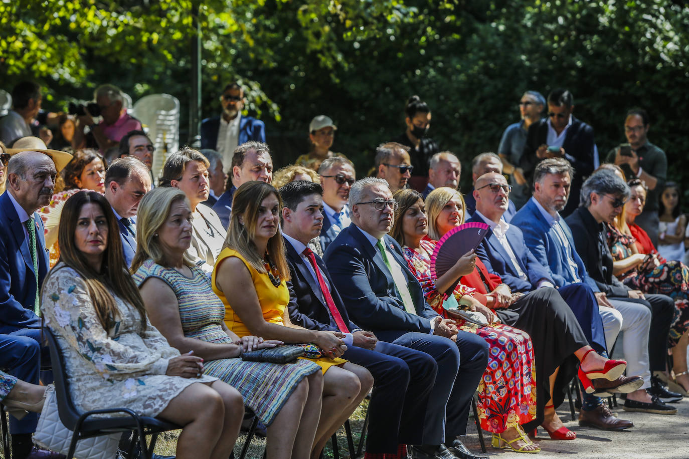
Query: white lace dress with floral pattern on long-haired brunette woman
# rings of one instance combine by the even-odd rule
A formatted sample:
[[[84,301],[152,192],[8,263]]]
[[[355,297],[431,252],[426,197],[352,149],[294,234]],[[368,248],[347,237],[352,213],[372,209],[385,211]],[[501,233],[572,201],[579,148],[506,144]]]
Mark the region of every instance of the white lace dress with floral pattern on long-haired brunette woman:
[[[119,297],[110,330],[104,330],[83,279],[58,264],[43,286],[41,310],[65,359],[72,401],[88,411],[127,407],[143,416],[158,416],[187,386],[217,378],[167,376],[167,361],[180,352],[138,311]]]

